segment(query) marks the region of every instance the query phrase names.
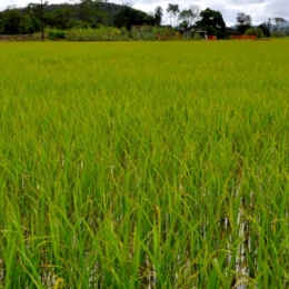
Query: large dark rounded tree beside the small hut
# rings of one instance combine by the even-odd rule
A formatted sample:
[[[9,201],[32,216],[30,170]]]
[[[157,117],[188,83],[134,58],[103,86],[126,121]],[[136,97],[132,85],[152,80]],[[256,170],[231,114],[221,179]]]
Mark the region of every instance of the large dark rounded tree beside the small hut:
[[[218,38],[226,37],[226,23],[221,12],[207,8],[200,12],[200,17],[201,20],[196,22],[199,28],[206,30],[208,34],[217,36]]]

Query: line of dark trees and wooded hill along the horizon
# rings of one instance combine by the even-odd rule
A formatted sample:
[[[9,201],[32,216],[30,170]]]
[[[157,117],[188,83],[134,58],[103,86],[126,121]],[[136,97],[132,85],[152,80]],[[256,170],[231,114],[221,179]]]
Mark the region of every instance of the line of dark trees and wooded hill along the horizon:
[[[286,36],[289,29],[281,29],[282,18],[272,18],[252,27],[252,18],[238,13],[235,28],[228,28],[220,11],[207,8],[200,11],[198,6],[180,10],[178,4],[167,7],[170,26],[182,31],[191,26],[218,38],[230,34],[256,34],[258,37]],[[132,4],[116,4],[107,0],[79,0],[74,3],[48,4],[29,3],[27,7],[10,6],[0,12],[1,34],[27,34],[46,28],[68,30],[72,28],[98,28],[109,26],[131,29],[132,26],[161,26],[163,9],[158,6],[153,12],[143,12]]]

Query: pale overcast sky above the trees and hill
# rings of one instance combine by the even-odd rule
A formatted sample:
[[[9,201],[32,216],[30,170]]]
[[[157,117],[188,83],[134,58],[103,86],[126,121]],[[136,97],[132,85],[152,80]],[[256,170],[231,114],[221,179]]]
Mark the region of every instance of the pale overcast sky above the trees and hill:
[[[44,1],[44,0],[43,0]],[[71,0],[50,0],[49,3],[63,3]],[[236,23],[238,12],[245,12],[252,17],[253,24],[260,24],[268,20],[268,18],[282,17],[289,21],[289,0],[173,0],[173,1],[156,1],[156,0],[109,0],[114,3],[133,3],[133,8],[140,9],[144,12],[153,11],[157,6],[161,6],[166,11],[168,3],[179,4],[180,10],[188,8],[190,4],[199,6],[201,10],[210,8],[222,13],[227,26]],[[40,2],[40,0],[0,0],[0,10],[8,6],[16,4],[17,7],[26,7],[29,2]],[[163,16],[163,23],[170,22],[167,13]]]

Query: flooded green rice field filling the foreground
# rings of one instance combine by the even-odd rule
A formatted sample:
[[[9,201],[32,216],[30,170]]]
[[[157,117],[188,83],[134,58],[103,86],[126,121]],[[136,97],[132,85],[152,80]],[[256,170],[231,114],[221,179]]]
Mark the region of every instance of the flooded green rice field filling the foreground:
[[[288,288],[288,51],[0,43],[0,288]]]

